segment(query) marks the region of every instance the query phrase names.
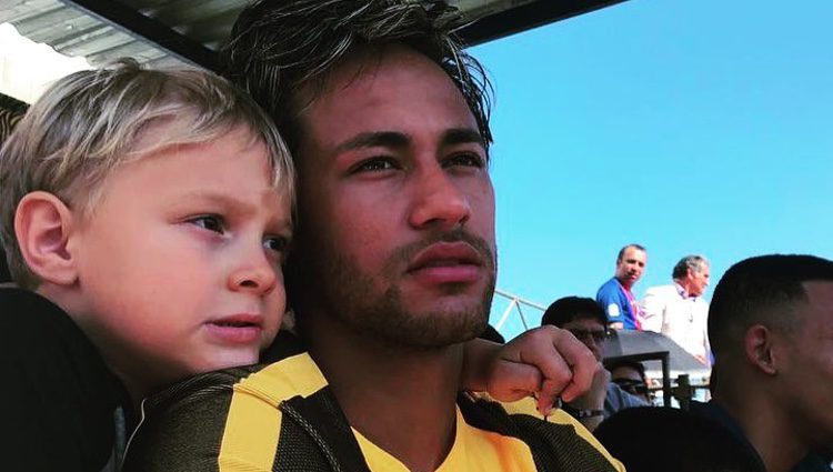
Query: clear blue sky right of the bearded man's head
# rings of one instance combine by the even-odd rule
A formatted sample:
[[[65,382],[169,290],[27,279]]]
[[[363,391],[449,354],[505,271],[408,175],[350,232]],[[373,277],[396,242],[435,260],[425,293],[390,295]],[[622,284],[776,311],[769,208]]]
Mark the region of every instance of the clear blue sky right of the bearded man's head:
[[[631,0],[473,48],[495,89],[499,288],[593,297],[629,242],[649,249],[638,297],[688,253],[713,284],[751,255],[833,258],[831,18]]]

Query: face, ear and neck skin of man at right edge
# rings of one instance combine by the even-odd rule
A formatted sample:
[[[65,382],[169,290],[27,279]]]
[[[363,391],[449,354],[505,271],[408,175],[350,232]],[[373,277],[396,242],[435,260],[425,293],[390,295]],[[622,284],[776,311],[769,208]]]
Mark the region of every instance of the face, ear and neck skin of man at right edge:
[[[727,355],[719,365],[724,376],[714,401],[737,421],[770,472],[789,472],[811,450],[833,443],[833,411],[824,408],[833,398],[833,282],[803,287],[806,301],[776,309],[789,317],[785,328],[752,325],[744,358]]]

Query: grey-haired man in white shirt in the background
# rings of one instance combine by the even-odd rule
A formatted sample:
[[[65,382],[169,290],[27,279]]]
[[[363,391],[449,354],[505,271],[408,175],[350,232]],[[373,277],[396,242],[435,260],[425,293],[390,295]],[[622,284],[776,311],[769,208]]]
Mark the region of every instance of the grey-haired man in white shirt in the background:
[[[674,265],[671,277],[673,284],[652,287],[645,292],[642,329],[665,334],[710,365],[709,303],[703,300],[709,287],[709,261],[702,255],[686,255]]]

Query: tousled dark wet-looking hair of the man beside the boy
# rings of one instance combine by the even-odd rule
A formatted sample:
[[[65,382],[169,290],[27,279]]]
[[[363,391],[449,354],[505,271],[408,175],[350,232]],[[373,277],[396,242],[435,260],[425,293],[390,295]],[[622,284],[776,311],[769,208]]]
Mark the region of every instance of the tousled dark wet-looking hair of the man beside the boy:
[[[491,87],[483,67],[452,33],[460,18],[438,0],[261,0],[234,23],[223,53],[224,74],[272,116],[294,154],[300,114],[323,92],[332,70],[345,58],[378,61],[380,50],[403,46],[451,78],[488,148]],[[309,92],[303,101],[299,90]]]

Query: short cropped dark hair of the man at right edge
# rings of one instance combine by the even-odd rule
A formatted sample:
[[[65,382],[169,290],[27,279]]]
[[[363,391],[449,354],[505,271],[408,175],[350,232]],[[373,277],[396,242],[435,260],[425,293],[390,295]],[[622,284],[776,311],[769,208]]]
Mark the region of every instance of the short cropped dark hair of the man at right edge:
[[[802,283],[810,281],[833,282],[833,261],[773,254],[732,265],[714,289],[709,308],[709,341],[715,364],[726,353],[741,352],[743,338],[754,324],[794,328],[800,320],[791,310],[807,301]]]

